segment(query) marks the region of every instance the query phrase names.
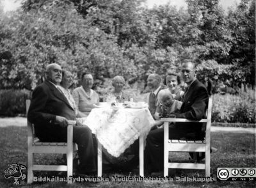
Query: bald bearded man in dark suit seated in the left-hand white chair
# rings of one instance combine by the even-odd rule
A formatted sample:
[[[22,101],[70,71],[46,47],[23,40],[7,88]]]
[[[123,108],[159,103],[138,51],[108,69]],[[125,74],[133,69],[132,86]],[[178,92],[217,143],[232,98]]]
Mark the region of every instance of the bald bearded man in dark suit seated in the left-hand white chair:
[[[52,63],[45,70],[46,80],[33,91],[28,120],[35,126],[35,134],[40,141],[67,141],[68,120],[76,120],[76,114],[67,98],[58,88],[62,79],[60,65]],[[96,171],[95,148],[91,130],[79,126],[77,121],[73,129],[73,140],[78,146],[81,164],[80,173]]]

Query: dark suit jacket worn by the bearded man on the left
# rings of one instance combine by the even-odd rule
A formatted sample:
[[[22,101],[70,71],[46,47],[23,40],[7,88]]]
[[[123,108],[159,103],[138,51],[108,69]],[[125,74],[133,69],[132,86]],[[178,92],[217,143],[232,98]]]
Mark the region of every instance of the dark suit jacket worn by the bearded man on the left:
[[[56,116],[76,120],[74,109],[67,98],[51,82],[38,85],[32,94],[28,120],[35,126],[35,134],[41,141],[65,141],[67,127],[56,125]]]

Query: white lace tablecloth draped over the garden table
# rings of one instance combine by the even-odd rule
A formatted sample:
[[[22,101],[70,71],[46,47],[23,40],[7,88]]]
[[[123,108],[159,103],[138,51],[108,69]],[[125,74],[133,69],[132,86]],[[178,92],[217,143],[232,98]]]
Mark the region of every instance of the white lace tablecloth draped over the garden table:
[[[147,136],[155,121],[147,107],[141,109],[95,108],[82,123],[114,157],[119,157],[139,136]]]

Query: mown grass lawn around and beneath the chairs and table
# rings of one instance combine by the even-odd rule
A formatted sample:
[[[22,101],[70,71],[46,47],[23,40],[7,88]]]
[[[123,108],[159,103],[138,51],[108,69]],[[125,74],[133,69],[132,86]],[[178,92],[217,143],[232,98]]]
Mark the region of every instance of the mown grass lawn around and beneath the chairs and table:
[[[21,185],[13,185],[13,178],[4,178],[4,169],[12,163],[24,164],[27,166],[27,137],[26,127],[2,127],[0,128],[0,187],[255,187],[255,182],[216,182],[216,171],[218,167],[255,167],[255,134],[245,133],[222,133],[212,132],[212,146],[218,148],[218,152],[211,154],[211,175],[214,182],[163,182],[163,181],[145,181],[145,182],[86,182],[66,184],[61,182],[54,183],[34,183],[27,185],[21,182]],[[36,155],[37,162],[54,163],[60,162],[62,155]],[[172,159],[187,160],[187,153],[172,153]],[[58,172],[36,172],[36,175],[60,175],[66,176],[66,173]],[[129,175],[129,172],[111,172],[104,173],[105,176]],[[178,170],[179,176],[204,176],[204,171]]]

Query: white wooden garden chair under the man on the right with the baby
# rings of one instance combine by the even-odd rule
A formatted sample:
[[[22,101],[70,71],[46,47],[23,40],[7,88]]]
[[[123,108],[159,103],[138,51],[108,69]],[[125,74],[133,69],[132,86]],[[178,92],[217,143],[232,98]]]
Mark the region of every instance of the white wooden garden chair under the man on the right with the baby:
[[[207,119],[200,121],[187,120],[184,118],[161,118],[164,121],[164,176],[168,176],[168,168],[179,169],[205,169],[205,176],[210,176],[210,142],[211,142],[211,110],[212,98],[209,98],[207,108]],[[205,140],[204,141],[186,141],[186,140],[170,140],[169,139],[169,123],[170,122],[202,122],[206,123]],[[179,163],[168,162],[169,152],[204,152],[205,164],[202,163]],[[195,153],[194,157],[195,159]]]

